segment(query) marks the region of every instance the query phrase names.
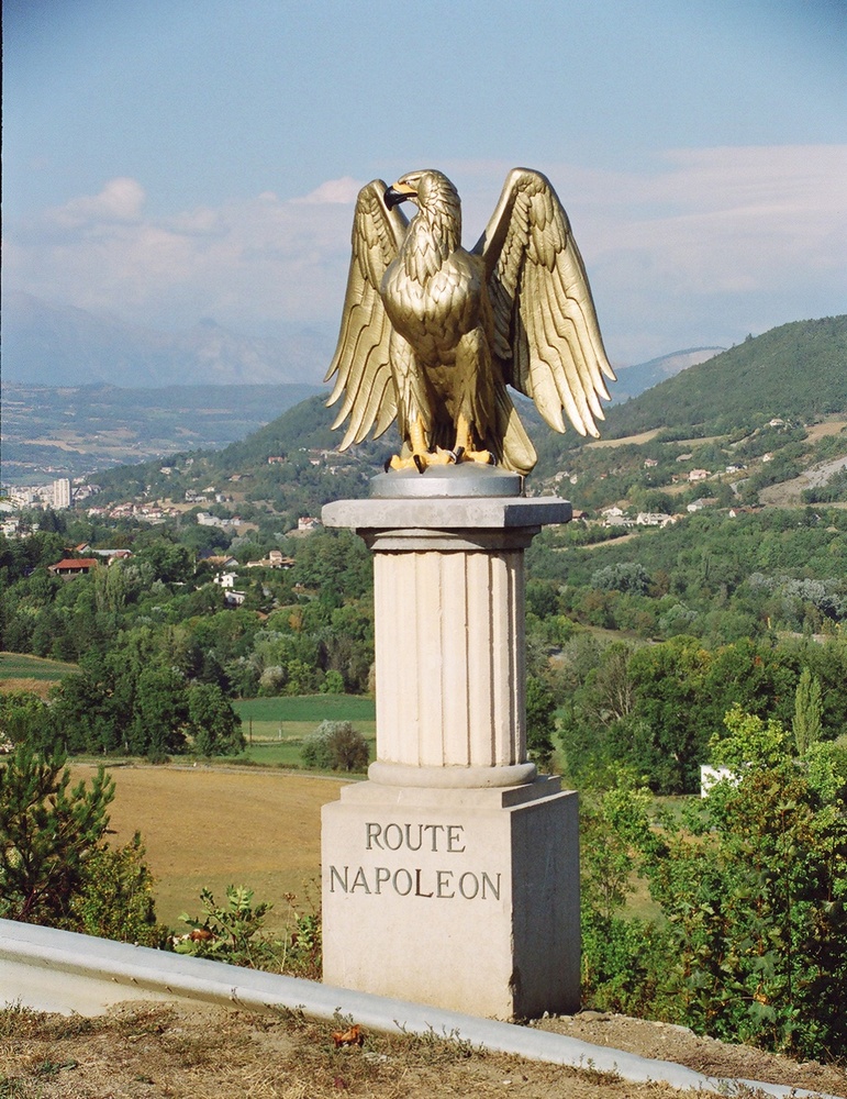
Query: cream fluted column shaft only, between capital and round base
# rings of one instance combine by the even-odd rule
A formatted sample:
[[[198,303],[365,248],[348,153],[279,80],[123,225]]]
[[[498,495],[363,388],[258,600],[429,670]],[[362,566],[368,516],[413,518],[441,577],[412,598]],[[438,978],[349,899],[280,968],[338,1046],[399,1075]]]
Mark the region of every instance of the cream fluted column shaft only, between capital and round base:
[[[524,763],[523,551],[377,552],[378,758]]]

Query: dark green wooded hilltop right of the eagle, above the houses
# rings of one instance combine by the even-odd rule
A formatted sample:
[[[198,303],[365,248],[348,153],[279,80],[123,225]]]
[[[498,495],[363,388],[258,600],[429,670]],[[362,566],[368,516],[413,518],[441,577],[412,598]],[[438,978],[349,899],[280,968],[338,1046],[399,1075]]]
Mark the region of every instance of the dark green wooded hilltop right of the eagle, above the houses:
[[[847,411],[847,315],[795,321],[662,381],[609,411],[603,435],[654,428],[722,434],[773,417],[812,419]]]

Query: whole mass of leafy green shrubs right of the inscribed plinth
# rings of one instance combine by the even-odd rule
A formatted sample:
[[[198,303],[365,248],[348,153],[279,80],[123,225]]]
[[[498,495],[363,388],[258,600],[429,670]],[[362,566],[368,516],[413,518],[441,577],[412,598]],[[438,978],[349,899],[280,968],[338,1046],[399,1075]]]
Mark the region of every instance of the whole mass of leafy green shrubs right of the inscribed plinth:
[[[802,761],[774,719],[734,707],[715,784],[650,823],[615,776],[586,799],[583,995],[595,1007],[691,1026],[803,1058],[847,1047],[847,781],[816,744]],[[828,750],[828,751],[823,751]],[[625,920],[635,873],[660,923]]]

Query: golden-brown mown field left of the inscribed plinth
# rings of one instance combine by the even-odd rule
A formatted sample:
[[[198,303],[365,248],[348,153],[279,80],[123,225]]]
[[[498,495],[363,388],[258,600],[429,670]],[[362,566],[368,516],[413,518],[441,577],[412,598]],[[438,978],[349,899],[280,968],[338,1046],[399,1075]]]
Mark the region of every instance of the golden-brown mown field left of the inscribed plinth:
[[[71,770],[74,781],[90,780],[94,767]],[[110,774],[110,842],[141,832],[163,923],[182,928],[180,912],[198,914],[203,886],[216,899],[227,885],[249,886],[256,900],[274,903],[271,928],[286,921],[287,892],[308,907],[312,882],[320,898],[321,806],[337,800],[337,779],[203,766],[120,766]]]

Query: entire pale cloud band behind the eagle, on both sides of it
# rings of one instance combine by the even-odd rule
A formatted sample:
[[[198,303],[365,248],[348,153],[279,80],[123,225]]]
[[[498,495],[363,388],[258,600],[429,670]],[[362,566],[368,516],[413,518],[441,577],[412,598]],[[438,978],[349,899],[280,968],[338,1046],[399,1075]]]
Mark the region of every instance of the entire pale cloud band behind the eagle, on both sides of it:
[[[472,243],[508,168],[445,167],[465,193]],[[638,171],[545,170],[618,362],[847,307],[847,146],[678,149]],[[111,180],[10,227],[7,286],[151,325],[334,326],[359,186],[333,179],[288,201],[266,191],[153,218],[141,184]]]

